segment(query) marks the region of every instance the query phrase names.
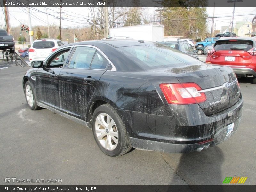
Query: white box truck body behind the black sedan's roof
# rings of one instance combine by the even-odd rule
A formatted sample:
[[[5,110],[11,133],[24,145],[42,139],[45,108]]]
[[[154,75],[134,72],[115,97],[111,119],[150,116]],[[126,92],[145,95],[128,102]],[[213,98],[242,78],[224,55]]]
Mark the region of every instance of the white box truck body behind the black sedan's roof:
[[[130,37],[144,41],[163,41],[164,25],[147,24],[109,29],[110,37]]]

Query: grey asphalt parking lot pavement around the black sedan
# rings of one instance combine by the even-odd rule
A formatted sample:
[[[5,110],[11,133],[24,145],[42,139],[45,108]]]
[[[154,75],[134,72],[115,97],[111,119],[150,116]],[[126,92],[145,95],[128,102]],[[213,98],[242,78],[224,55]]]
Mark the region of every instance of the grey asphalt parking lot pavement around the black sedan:
[[[113,158],[100,151],[90,129],[28,108],[22,89],[27,69],[0,61],[0,185],[221,185],[235,176],[256,185],[256,85],[250,80],[239,80],[243,118],[229,140],[200,153],[132,150]],[[14,177],[62,182],[5,182]]]

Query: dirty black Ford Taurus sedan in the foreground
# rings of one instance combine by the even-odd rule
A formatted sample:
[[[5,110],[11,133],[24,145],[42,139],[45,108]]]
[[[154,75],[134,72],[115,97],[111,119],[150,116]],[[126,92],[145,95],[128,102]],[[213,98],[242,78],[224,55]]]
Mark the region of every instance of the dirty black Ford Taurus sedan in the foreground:
[[[92,128],[109,156],[132,147],[202,151],[227,140],[241,119],[243,100],[232,68],[155,42],[67,44],[32,67],[22,82],[28,107],[48,108]]]

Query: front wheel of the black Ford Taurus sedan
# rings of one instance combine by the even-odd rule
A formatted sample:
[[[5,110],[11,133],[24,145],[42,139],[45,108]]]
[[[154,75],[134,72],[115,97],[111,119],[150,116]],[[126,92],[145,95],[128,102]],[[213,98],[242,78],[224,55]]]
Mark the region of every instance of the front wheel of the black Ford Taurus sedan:
[[[26,101],[28,103],[28,107],[32,110],[38,110],[41,109],[41,107],[39,107],[36,103],[36,95],[35,95],[35,91],[33,89],[32,84],[27,81],[25,83],[25,87],[24,87],[24,93],[25,93],[25,98]]]

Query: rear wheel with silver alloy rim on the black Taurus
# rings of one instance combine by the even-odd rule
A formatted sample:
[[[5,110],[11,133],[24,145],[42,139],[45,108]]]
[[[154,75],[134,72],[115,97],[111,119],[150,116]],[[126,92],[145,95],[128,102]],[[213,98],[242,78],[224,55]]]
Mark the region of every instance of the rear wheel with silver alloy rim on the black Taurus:
[[[132,148],[123,120],[109,104],[95,109],[92,132],[97,145],[108,156],[121,156]]]

